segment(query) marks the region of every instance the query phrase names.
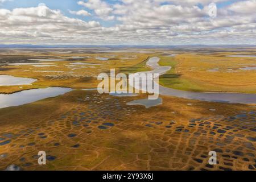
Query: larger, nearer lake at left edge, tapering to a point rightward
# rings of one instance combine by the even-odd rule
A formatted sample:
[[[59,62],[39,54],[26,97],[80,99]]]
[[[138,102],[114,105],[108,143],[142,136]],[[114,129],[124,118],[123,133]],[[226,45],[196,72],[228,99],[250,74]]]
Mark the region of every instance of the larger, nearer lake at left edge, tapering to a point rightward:
[[[23,90],[13,94],[0,94],[0,108],[19,106],[48,97],[56,97],[71,90],[71,88],[49,87],[45,89]]]

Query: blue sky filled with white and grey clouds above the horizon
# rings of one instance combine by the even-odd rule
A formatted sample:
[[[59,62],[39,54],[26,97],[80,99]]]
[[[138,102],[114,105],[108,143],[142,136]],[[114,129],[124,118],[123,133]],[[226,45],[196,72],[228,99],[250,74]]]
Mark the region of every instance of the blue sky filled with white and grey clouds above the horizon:
[[[0,44],[255,45],[256,0],[0,0]]]

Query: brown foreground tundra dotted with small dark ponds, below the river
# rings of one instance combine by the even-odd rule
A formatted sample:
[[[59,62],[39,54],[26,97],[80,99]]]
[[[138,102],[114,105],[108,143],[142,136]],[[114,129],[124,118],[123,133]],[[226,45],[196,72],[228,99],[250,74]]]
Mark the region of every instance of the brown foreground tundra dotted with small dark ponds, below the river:
[[[150,109],[126,105],[142,97],[73,91],[1,109],[0,169],[255,169],[255,106],[171,97]],[[216,166],[208,164],[212,150]]]

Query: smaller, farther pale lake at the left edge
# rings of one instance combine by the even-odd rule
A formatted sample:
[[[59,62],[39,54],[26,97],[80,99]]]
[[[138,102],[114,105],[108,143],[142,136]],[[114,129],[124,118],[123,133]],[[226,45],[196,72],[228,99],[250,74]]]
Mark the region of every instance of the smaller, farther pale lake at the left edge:
[[[0,86],[12,86],[12,85],[30,85],[32,82],[37,81],[32,78],[21,78],[10,75],[0,75]]]

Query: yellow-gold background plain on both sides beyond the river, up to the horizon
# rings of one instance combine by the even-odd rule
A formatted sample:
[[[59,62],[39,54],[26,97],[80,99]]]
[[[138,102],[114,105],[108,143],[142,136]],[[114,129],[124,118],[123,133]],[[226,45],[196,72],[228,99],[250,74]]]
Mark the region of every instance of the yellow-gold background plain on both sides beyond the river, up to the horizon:
[[[158,56],[160,65],[172,67],[159,79],[160,84],[168,88],[196,92],[256,93],[256,58],[228,57],[230,55],[256,55],[255,49],[250,48],[247,52],[235,52],[236,49],[215,51],[208,49],[208,52],[199,49],[186,53],[179,49],[169,52],[149,50],[147,51],[149,53],[136,51],[135,53],[92,53],[86,49],[79,52],[76,49],[18,52],[2,50],[0,51],[1,75],[36,78],[38,81],[31,85],[22,85],[22,88],[20,85],[0,86],[0,93],[13,93],[46,86],[63,86],[73,89],[96,88],[98,74],[109,73],[110,68],[126,74],[149,71],[150,68],[146,67],[146,61],[150,56]],[[169,56],[172,54],[175,56]],[[38,61],[40,59],[62,59],[64,61]],[[3,65],[5,63],[6,65]],[[39,65],[7,65],[17,63],[39,63]]]

